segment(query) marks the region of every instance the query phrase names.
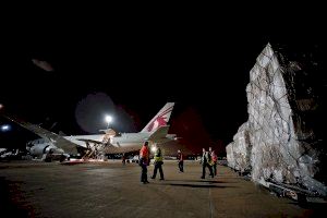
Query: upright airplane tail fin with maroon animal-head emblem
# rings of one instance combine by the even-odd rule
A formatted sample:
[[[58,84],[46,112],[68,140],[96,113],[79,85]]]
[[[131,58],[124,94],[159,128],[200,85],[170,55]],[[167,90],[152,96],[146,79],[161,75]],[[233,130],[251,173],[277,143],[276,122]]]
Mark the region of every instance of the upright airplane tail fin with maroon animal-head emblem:
[[[153,133],[158,128],[162,125],[167,125],[170,114],[172,112],[174,102],[167,102],[164,108],[145,125],[145,128],[141,131],[143,133]]]

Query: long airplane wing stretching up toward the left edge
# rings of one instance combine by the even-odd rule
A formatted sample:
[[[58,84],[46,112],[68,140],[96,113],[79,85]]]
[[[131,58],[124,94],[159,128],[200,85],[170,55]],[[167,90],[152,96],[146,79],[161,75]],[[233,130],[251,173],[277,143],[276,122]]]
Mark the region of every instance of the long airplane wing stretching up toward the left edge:
[[[80,146],[80,145],[76,145],[76,144],[65,140],[64,137],[62,137],[56,133],[52,133],[46,129],[43,129],[38,125],[32,124],[32,123],[28,123],[25,121],[21,121],[19,119],[12,119],[12,118],[9,118],[8,116],[3,116],[3,117],[13,121],[14,123],[17,123],[22,128],[35,133],[36,135],[52,142],[57,147],[62,148],[65,153],[72,154],[72,155],[77,155],[77,146]]]

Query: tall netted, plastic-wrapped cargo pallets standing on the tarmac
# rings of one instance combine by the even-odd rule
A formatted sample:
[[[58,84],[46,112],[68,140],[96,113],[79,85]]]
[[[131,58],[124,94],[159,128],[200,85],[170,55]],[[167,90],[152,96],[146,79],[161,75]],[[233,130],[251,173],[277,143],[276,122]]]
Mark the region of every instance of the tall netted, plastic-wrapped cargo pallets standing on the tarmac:
[[[249,120],[227,146],[227,159],[229,167],[250,171],[253,181],[326,196],[324,134],[314,122],[324,114],[323,98],[314,92],[318,77],[311,63],[290,60],[270,44],[264,48],[246,86]]]

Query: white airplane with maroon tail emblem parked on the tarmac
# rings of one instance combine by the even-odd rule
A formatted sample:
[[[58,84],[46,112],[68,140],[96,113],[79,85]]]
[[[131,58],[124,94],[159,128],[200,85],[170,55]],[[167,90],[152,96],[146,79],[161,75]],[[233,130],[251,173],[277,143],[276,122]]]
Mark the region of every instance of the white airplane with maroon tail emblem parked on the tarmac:
[[[138,150],[145,141],[148,141],[150,146],[177,141],[175,134],[168,134],[169,125],[167,125],[173,106],[174,102],[167,102],[138,133],[117,134],[108,129],[101,130],[104,134],[63,136],[38,125],[5,117],[41,137],[28,142],[26,149],[32,156],[47,160],[49,156],[69,158],[70,156],[131,153]]]

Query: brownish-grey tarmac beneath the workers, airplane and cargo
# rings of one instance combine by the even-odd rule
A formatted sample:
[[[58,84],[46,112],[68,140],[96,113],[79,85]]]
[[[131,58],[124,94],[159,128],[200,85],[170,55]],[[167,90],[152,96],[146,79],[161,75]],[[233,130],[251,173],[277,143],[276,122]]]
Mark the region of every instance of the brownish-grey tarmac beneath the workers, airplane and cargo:
[[[325,217],[325,204],[278,197],[225,166],[201,179],[202,166],[165,161],[165,181],[140,182],[137,164],[0,162],[0,217]]]

